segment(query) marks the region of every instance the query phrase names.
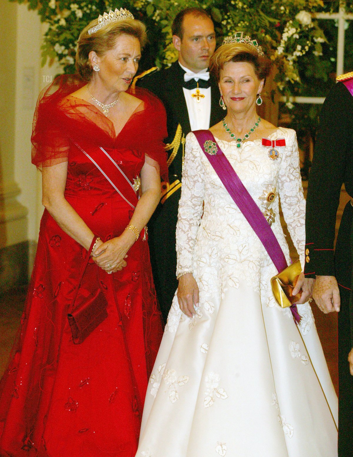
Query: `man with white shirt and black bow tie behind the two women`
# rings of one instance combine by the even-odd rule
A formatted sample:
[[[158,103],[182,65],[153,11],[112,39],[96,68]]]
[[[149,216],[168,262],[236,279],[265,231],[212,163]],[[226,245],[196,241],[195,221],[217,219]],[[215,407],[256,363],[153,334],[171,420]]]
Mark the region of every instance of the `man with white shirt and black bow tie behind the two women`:
[[[172,33],[178,61],[167,69],[148,70],[135,81],[157,95],[167,112],[169,184],[162,183],[160,204],[148,223],[153,279],[164,322],[178,287],[175,229],[185,136],[211,127],[225,115],[219,105],[218,85],[207,70],[216,47],[210,16],[202,9],[187,8],[175,17]]]

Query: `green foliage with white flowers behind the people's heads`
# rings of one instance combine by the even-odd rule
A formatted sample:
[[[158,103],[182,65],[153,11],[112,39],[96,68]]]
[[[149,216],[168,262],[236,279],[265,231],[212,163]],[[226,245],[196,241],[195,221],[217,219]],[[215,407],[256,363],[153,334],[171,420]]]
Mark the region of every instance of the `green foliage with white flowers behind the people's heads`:
[[[22,3],[26,0],[11,0]],[[278,69],[277,90],[286,97],[280,112],[293,118],[292,126],[315,134],[320,106],[292,104],[291,96],[325,96],[334,84],[337,48],[335,21],[315,20],[313,13],[338,11],[342,0],[27,0],[48,24],[42,45],[42,65],[57,58],[65,73],[74,73],[76,42],[80,31],[99,14],[127,8],[148,29],[148,46],[140,70],[170,65],[177,59],[170,25],[188,6],[207,11],[214,23],[217,43],[236,31],[258,40]],[[353,11],[353,0],[345,2]],[[352,43],[352,27],[346,31]],[[349,39],[348,39],[349,37]],[[353,69],[353,52],[347,47],[347,71]]]

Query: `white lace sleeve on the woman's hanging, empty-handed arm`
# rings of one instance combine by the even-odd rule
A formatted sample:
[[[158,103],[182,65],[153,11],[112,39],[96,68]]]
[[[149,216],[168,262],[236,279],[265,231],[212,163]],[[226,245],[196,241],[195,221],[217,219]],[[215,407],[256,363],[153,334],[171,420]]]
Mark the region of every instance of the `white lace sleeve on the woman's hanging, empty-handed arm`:
[[[204,200],[204,169],[193,133],[186,136],[184,170],[176,227],[177,276],[192,272],[192,254]]]

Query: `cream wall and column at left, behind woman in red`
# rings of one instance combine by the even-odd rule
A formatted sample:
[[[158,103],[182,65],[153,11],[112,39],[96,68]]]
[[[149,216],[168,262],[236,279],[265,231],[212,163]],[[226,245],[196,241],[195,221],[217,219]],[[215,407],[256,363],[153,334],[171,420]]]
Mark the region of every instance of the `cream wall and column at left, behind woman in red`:
[[[41,68],[46,26],[26,4],[0,0],[0,248],[37,241],[41,174],[31,163],[33,113],[39,92],[60,72]],[[6,32],[4,32],[6,31]]]

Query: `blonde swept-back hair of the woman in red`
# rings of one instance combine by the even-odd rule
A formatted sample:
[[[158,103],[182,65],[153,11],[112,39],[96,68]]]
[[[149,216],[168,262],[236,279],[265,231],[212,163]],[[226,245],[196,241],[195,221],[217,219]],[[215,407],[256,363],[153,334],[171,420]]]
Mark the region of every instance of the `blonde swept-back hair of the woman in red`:
[[[137,19],[124,19],[112,22],[89,35],[89,29],[95,27],[97,24],[98,19],[95,19],[88,26],[84,27],[77,42],[76,69],[84,81],[89,81],[93,74],[92,65],[88,58],[91,51],[95,51],[100,57],[103,56],[107,51],[114,48],[116,38],[121,35],[136,37],[140,42],[141,49],[147,41],[146,27],[141,21],[137,21]]]

